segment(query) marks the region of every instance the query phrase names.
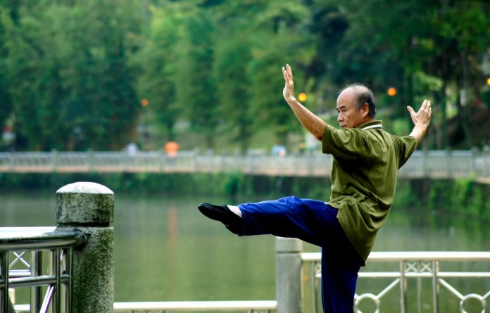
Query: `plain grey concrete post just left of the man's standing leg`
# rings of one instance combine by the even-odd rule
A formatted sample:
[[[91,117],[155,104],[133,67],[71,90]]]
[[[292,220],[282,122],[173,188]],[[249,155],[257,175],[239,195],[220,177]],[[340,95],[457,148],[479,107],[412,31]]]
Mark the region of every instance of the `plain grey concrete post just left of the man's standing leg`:
[[[277,313],[301,313],[301,251],[303,243],[296,238],[276,238]]]

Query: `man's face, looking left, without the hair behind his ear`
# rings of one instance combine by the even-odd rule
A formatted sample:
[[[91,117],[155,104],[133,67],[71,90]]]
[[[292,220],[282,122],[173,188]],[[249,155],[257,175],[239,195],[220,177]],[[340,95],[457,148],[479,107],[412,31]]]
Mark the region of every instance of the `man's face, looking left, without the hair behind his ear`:
[[[339,121],[341,129],[356,128],[360,124],[365,123],[366,107],[358,110],[354,103],[353,89],[346,89],[339,94],[337,98],[337,121]]]

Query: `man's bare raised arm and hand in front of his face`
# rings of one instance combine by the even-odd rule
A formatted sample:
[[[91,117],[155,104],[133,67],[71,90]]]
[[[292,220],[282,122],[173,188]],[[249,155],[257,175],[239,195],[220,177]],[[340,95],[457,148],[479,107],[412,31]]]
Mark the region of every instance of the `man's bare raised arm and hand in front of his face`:
[[[289,104],[294,112],[294,115],[296,115],[303,127],[305,127],[313,136],[315,136],[316,139],[322,141],[327,123],[325,123],[320,117],[311,113],[310,110],[305,108],[294,97],[293,72],[291,71],[289,64],[286,65],[286,68],[282,68],[282,75],[284,76],[284,81],[286,82],[284,89],[282,90],[282,95],[284,96],[287,104]]]

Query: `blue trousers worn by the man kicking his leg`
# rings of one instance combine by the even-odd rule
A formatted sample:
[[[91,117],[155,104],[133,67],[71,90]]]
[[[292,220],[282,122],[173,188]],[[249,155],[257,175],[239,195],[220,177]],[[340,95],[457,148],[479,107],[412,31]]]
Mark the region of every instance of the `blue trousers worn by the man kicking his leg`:
[[[322,248],[322,304],[325,313],[353,312],[358,272],[364,261],[337,220],[338,210],[295,196],[238,205],[243,236],[272,234],[299,238]]]

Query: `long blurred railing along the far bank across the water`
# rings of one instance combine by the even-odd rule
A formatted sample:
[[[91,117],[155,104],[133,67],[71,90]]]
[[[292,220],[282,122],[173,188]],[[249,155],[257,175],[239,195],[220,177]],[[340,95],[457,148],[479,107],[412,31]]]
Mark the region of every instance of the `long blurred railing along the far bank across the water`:
[[[208,155],[180,151],[4,152],[0,172],[242,172],[278,176],[328,177],[332,155]],[[477,151],[415,151],[399,177],[490,179],[490,155]]]

